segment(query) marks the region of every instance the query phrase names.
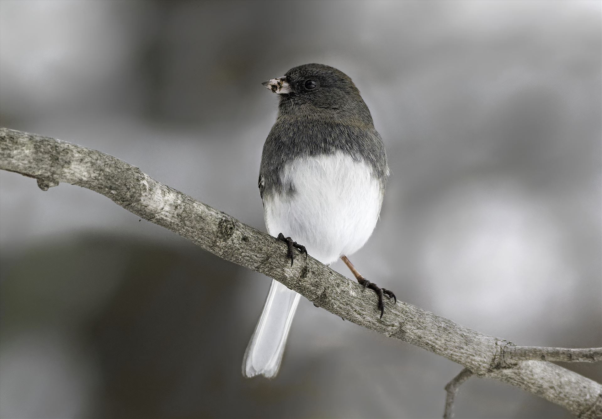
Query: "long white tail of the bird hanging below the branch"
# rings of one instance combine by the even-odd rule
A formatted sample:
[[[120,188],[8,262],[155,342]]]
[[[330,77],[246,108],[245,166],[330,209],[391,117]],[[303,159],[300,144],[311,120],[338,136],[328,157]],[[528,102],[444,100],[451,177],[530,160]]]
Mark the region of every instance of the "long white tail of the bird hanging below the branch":
[[[261,317],[244,352],[244,376],[250,378],[262,374],[273,378],[278,374],[300,297],[278,281],[272,280]]]

